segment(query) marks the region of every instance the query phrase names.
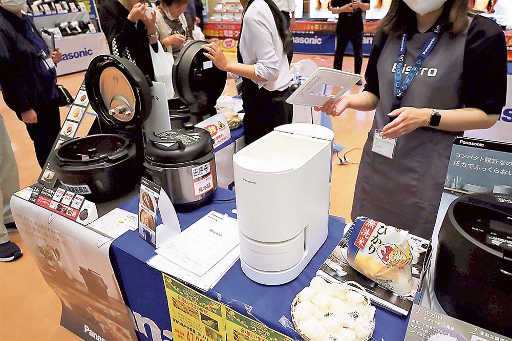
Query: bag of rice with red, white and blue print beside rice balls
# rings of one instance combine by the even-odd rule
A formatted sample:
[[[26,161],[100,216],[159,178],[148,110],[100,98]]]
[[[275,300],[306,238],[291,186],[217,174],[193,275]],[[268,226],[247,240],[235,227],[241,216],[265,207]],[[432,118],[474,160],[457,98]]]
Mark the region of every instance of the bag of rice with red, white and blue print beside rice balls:
[[[412,265],[417,254],[408,231],[367,217],[358,217],[347,238],[347,261],[355,270],[401,296],[411,295]]]

